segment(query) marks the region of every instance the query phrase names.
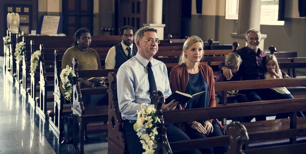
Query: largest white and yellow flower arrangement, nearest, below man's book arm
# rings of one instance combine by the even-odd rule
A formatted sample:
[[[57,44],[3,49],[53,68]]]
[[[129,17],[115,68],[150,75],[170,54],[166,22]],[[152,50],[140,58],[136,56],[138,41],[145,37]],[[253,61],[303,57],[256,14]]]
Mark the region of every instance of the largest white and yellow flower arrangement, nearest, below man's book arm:
[[[158,131],[161,124],[157,116],[154,105],[141,104],[141,110],[137,112],[137,122],[134,124],[134,130],[140,138],[142,148],[145,149],[143,154],[153,154],[157,148]]]

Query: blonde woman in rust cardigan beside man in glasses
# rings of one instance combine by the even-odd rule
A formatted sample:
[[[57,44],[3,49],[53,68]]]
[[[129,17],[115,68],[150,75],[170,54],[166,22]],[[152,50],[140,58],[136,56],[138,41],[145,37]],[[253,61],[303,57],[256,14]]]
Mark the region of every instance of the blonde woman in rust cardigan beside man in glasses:
[[[190,95],[206,91],[198,100],[188,102],[186,109],[215,107],[215,81],[211,67],[201,64],[204,54],[203,41],[192,36],[186,40],[180,57],[179,66],[172,68],[170,88],[172,92],[181,91]],[[217,119],[203,119],[184,124],[186,134],[191,139],[222,136],[223,127]],[[227,146],[200,149],[202,153],[224,153]]]

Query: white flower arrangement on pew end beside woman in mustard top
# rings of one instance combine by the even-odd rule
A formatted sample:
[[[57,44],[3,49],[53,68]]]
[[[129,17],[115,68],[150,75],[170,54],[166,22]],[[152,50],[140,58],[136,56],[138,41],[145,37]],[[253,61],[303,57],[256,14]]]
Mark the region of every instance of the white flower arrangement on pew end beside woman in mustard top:
[[[73,77],[75,77],[73,69],[67,65],[66,69],[62,70],[60,77],[63,82],[63,88],[65,90],[65,99],[70,101],[72,95]]]

